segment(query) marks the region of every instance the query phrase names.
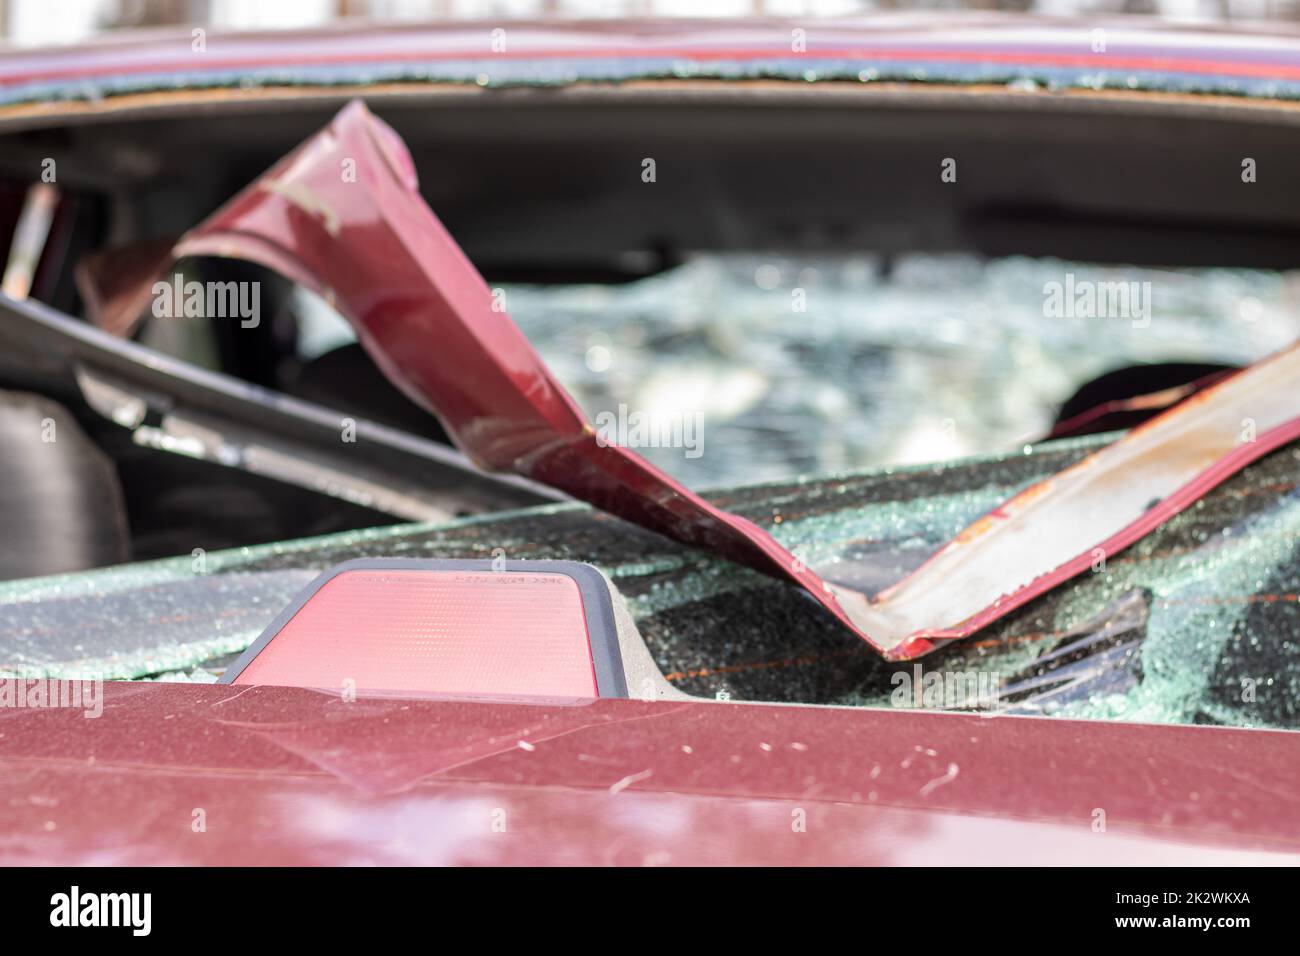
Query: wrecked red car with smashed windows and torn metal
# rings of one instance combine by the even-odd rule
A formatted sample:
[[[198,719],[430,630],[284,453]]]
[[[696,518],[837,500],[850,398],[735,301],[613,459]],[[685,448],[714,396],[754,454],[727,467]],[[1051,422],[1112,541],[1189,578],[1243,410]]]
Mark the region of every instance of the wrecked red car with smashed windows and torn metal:
[[[0,858],[1296,862],[1300,34],[1132,23],[0,59]]]

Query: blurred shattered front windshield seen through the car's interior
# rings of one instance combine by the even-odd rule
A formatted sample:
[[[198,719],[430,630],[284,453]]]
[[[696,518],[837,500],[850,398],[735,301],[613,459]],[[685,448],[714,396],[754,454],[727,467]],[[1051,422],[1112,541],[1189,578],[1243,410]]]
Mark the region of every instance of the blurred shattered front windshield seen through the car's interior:
[[[1052,313],[1062,276],[1150,298],[1098,328]],[[1112,369],[1244,365],[1300,337],[1297,276],[1261,269],[698,256],[627,285],[504,289],[593,420],[646,408],[698,436],[644,451],[693,488],[1010,451]]]

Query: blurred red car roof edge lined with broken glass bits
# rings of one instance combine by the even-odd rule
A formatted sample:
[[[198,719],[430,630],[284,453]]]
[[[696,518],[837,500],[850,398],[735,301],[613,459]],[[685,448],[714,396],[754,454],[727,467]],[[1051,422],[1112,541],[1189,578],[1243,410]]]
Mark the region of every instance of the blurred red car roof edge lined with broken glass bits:
[[[124,31],[9,49],[0,105],[199,88],[384,82],[568,86],[637,79],[1043,83],[1300,98],[1300,33],[997,13],[845,20],[342,22]]]

